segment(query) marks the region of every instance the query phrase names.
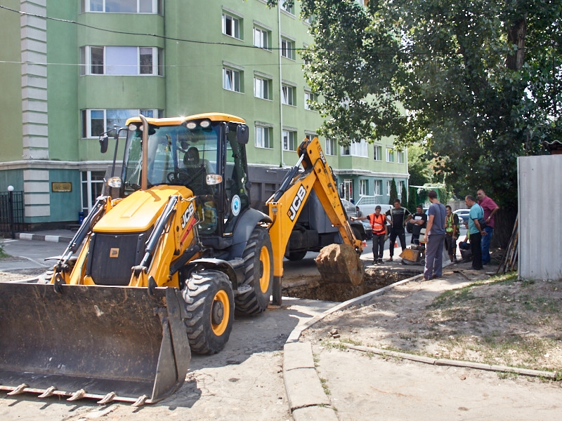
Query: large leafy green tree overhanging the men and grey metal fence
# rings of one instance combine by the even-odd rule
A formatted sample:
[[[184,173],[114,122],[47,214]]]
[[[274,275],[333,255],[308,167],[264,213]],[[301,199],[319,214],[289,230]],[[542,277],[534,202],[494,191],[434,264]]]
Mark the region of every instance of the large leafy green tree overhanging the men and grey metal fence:
[[[273,1],[273,0],[270,0]],[[516,209],[518,156],[562,141],[562,2],[301,0],[307,81],[341,144],[419,142],[436,180]],[[515,213],[504,215],[507,243]],[[501,228],[502,222],[497,225]],[[496,229],[497,231],[497,229]],[[495,235],[496,237],[496,235]]]

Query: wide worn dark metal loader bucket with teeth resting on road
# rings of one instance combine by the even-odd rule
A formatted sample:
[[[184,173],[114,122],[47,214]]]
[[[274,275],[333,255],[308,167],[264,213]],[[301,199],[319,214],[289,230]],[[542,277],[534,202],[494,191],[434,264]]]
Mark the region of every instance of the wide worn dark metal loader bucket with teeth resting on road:
[[[0,283],[0,389],[129,401],[174,393],[190,347],[176,288]]]

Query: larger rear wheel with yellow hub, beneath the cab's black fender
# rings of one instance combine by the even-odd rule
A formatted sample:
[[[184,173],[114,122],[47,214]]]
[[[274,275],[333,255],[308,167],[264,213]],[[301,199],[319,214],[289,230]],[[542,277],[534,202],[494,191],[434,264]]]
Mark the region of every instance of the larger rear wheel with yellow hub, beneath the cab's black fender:
[[[264,312],[273,290],[273,251],[267,229],[255,227],[242,253],[247,293],[236,296],[236,312],[248,316]]]

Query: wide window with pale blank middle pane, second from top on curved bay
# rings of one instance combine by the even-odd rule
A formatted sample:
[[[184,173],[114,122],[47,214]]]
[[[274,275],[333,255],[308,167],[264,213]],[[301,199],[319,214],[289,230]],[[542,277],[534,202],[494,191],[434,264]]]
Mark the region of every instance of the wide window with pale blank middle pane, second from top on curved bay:
[[[80,48],[80,74],[164,76],[163,51],[156,47]]]

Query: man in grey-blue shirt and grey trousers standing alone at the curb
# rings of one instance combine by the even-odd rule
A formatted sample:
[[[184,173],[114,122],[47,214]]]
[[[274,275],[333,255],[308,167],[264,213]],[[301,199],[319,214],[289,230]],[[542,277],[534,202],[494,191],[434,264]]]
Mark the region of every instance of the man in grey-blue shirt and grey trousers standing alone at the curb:
[[[430,190],[427,194],[431,205],[427,210],[427,227],[424,241],[426,243],[426,267],[424,279],[429,281],[443,276],[443,243],[445,243],[445,205],[439,203],[437,192]]]

